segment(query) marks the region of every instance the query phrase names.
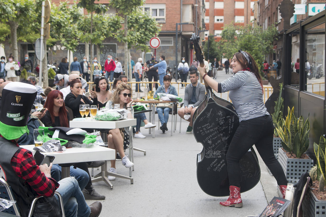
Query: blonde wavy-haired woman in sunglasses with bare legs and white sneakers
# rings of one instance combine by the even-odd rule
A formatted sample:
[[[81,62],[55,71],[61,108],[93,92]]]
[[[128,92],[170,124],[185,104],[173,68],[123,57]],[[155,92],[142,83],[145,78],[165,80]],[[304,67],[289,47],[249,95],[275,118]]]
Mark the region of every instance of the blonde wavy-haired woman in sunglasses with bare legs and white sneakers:
[[[133,107],[131,106],[133,99],[132,96],[132,89],[129,85],[125,83],[120,83],[116,90],[114,91],[111,100],[108,103],[109,108],[114,108],[114,104],[120,104],[120,108],[125,108],[128,113],[128,118],[133,118],[134,111]],[[106,106],[108,107],[108,105]],[[125,128],[125,131],[127,134],[129,134],[129,128]],[[129,134],[130,135],[130,134]],[[109,148],[115,149],[116,152],[119,152],[119,155],[122,158],[122,165],[124,165],[126,168],[130,168],[134,166],[134,163],[132,163],[129,158],[125,155],[124,152],[124,146],[123,146],[124,138],[121,136],[120,129],[111,129],[109,130],[108,134],[108,143]],[[116,173],[115,169],[115,160],[111,160],[111,168],[109,172]],[[114,176],[108,177],[110,181],[115,180]]]

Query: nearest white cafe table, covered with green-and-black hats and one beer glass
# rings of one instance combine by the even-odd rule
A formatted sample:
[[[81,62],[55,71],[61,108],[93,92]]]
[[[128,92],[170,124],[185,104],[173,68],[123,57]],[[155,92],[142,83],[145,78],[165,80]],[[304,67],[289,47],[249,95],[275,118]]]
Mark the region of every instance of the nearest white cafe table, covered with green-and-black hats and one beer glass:
[[[33,148],[35,145],[22,145],[20,146],[24,149],[27,149],[35,154]],[[97,161],[97,160],[112,160],[115,159],[115,150],[111,148],[102,147],[99,145],[91,147],[73,147],[67,148],[64,152],[42,152],[44,156],[50,155],[55,156],[53,164],[69,164],[69,163],[79,163],[79,162],[88,162],[88,161]],[[96,178],[96,181],[104,181],[110,185],[111,189],[113,188],[111,182],[107,178],[107,164],[102,165],[102,177]],[[70,176],[70,167],[61,167],[61,178],[66,178]]]

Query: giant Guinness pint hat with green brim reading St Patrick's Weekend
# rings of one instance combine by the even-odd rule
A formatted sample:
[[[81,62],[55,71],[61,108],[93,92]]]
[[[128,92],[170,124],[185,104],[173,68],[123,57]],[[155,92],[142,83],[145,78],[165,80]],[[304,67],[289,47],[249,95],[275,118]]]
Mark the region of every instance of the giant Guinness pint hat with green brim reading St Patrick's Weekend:
[[[7,140],[18,139],[27,128],[28,115],[37,95],[34,85],[10,82],[2,90],[0,134]]]

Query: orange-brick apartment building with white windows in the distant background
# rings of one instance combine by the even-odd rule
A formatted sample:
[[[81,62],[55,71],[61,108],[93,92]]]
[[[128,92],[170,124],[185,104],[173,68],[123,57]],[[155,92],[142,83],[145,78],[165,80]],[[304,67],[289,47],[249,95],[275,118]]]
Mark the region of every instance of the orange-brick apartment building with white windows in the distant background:
[[[215,41],[221,39],[224,25],[251,24],[254,20],[253,0],[205,0],[205,37],[216,35]]]

